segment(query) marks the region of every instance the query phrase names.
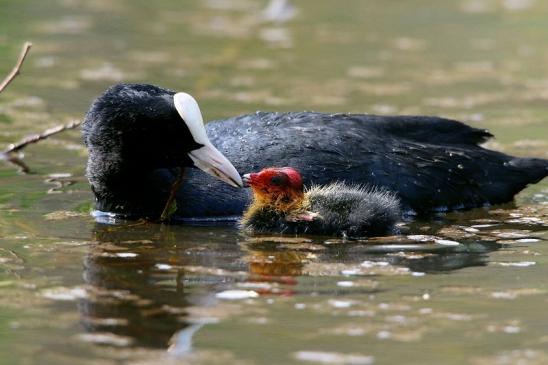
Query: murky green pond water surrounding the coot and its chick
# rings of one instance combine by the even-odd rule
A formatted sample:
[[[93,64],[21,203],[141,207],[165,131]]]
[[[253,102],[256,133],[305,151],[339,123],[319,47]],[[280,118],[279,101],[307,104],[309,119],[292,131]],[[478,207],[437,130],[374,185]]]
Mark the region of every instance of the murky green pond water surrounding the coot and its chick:
[[[0,75],[34,43],[0,95],[0,144],[126,81],[190,92],[206,119],[434,114],[548,157],[548,3],[302,0],[285,22],[266,5],[0,0]],[[546,180],[400,237],[280,242],[96,223],[77,131],[24,161],[0,161],[0,364],[548,363]]]

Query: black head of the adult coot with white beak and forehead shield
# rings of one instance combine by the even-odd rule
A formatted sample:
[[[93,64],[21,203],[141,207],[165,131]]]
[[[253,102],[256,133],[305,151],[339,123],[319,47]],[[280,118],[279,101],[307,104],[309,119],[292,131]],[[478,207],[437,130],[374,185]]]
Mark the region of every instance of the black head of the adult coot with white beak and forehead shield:
[[[83,137],[92,156],[88,176],[109,167],[197,167],[234,187],[243,186],[232,163],[210,142],[200,107],[187,93],[154,85],[115,85],[92,104]]]

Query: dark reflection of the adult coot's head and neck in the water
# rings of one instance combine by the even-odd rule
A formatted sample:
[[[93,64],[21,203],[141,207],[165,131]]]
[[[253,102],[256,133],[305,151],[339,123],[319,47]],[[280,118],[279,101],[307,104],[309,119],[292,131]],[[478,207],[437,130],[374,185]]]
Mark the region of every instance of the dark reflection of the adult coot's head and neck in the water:
[[[177,235],[165,228],[96,224],[96,244],[84,263],[84,279],[95,295],[80,304],[86,330],[162,348],[174,333],[192,325],[185,312],[192,299],[182,269],[188,256],[180,252],[183,245],[175,244]]]

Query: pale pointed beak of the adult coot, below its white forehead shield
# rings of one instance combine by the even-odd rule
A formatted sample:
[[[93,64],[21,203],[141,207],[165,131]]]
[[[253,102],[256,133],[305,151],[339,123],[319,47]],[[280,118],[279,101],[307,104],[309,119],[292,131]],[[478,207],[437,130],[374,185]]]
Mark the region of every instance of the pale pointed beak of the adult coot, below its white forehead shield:
[[[190,151],[188,156],[194,166],[235,188],[243,187],[242,178],[230,161],[212,144]]]

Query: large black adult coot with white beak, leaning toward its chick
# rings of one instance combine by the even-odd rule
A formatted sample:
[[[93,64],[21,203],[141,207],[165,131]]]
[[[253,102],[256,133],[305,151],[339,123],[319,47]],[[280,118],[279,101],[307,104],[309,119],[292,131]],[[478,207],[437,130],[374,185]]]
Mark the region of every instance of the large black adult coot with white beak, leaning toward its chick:
[[[417,213],[507,202],[548,173],[548,160],[487,150],[479,146],[492,137],[486,130],[437,117],[257,112],[208,123],[208,140],[185,95],[120,84],[93,102],[83,137],[96,209],[159,216],[177,166],[240,185],[213,146],[238,171],[293,166],[305,185],[378,186]],[[240,215],[250,192],[223,181],[185,169],[176,217]]]

